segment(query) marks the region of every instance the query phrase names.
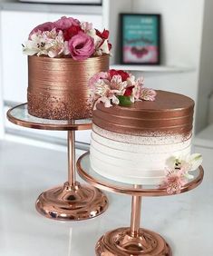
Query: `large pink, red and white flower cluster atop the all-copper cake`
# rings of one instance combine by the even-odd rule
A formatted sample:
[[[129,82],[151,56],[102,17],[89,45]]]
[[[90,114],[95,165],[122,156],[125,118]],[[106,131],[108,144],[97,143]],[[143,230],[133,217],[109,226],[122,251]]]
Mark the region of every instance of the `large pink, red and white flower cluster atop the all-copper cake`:
[[[27,55],[53,57],[71,56],[85,60],[91,56],[110,54],[109,31],[100,32],[91,23],[63,16],[55,22],[34,27],[23,44]]]

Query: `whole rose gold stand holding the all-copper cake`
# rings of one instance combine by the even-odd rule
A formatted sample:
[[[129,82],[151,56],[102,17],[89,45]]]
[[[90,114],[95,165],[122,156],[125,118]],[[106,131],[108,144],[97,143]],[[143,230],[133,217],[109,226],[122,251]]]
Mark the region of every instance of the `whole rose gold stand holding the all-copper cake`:
[[[7,118],[28,128],[68,131],[68,182],[41,193],[35,204],[38,212],[53,220],[80,221],[92,219],[106,211],[108,200],[105,194],[75,180],[75,131],[90,129],[90,119],[62,121],[36,118],[28,113],[27,103],[10,109]]]

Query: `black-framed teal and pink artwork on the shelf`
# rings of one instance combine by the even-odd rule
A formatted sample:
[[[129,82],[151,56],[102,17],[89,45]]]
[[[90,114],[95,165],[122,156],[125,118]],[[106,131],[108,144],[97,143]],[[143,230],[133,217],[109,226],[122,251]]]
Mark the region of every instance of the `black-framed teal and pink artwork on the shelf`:
[[[160,15],[121,14],[121,64],[160,64]]]

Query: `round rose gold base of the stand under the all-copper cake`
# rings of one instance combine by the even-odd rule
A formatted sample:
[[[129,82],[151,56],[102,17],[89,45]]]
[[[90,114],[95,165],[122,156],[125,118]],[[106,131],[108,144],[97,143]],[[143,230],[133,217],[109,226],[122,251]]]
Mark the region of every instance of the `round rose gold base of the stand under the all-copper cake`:
[[[45,217],[59,221],[81,221],[92,219],[108,207],[107,197],[99,189],[75,182],[70,186],[50,189],[40,194],[35,203],[36,210]]]

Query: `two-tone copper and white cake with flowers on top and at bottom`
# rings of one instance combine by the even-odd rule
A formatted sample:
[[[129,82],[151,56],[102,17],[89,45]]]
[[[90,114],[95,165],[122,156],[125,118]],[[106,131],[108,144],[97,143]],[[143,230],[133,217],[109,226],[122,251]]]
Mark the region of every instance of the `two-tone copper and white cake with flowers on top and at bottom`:
[[[142,77],[121,70],[90,80],[91,167],[117,182],[180,192],[202,161],[200,154],[190,154],[194,101],[143,85]]]

